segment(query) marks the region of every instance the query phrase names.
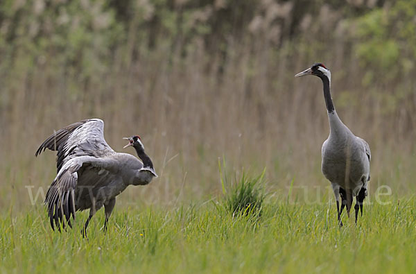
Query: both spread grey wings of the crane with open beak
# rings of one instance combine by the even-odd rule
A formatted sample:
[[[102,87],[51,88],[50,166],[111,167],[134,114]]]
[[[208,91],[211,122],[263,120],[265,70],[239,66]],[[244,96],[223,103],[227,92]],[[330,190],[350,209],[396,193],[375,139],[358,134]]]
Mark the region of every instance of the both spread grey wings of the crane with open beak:
[[[65,226],[64,219],[71,226],[71,215],[75,219],[76,187],[78,171],[83,166],[95,166],[110,170],[118,169],[117,162],[105,156],[115,152],[104,139],[104,122],[101,119],[88,119],[73,123],[58,130],[43,142],[35,155],[46,148],[57,153],[57,175],[46,193],[51,227]]]

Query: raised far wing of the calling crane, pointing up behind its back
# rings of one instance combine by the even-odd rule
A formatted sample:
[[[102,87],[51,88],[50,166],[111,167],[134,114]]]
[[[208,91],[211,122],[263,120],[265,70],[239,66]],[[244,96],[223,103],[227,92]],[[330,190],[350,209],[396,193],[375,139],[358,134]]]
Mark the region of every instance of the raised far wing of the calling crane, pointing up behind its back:
[[[58,151],[56,168],[79,156],[103,157],[114,153],[104,139],[104,122],[101,119],[87,119],[58,130],[37,149],[35,156],[49,148]]]

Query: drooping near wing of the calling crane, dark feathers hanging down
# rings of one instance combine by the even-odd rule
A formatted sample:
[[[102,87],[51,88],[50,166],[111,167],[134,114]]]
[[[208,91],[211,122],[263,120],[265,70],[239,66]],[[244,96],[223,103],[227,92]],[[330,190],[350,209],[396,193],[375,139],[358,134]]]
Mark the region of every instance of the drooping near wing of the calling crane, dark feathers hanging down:
[[[88,169],[88,167],[98,169]],[[69,226],[71,226],[71,215],[75,219],[78,176],[83,176],[85,172],[88,172],[90,174],[87,174],[87,176],[94,180],[91,183],[96,184],[101,179],[100,173],[97,173],[97,170],[103,169],[117,172],[116,160],[108,157],[98,159],[91,156],[80,156],[67,161],[62,166],[55,180],[53,180],[51,187],[46,192],[45,198],[45,205],[48,208],[52,229],[54,229],[54,223],[58,229],[60,229],[61,223],[64,227],[64,216]],[[80,173],[83,173],[83,175],[80,175]],[[105,180],[105,178],[103,179]]]

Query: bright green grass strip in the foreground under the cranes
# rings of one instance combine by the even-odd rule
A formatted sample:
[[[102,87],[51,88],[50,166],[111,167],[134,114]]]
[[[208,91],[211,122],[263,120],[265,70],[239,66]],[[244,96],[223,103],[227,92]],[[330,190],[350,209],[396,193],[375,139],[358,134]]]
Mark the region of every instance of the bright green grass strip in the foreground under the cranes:
[[[338,228],[333,203],[263,203],[263,214],[233,217],[209,201],[174,208],[116,207],[107,234],[102,210],[80,235],[53,232],[46,212],[0,214],[0,271],[144,273],[416,273],[416,198],[365,205]]]

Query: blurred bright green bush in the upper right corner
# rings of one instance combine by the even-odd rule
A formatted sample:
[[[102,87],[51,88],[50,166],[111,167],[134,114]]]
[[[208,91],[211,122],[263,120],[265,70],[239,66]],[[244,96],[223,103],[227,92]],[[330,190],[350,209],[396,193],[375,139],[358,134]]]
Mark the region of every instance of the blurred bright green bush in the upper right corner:
[[[415,14],[415,0],[399,0],[356,19],[356,54],[368,69],[364,85],[389,83],[415,68]]]

